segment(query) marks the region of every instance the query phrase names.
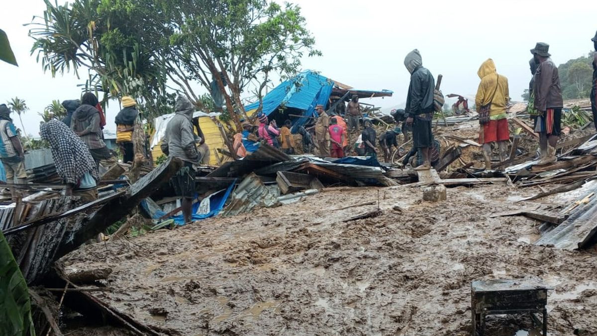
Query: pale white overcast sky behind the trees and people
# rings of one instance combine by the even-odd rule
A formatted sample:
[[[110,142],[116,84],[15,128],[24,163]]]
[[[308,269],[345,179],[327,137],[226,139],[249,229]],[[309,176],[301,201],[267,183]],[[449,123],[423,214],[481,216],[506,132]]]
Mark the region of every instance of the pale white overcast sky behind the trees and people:
[[[524,0],[294,2],[301,6],[316,47],[323,53],[304,59],[303,69],[355,88],[394,91],[393,97],[370,101],[384,108],[405,102],[409,74],[403,62],[414,48],[435,77],[444,75],[444,94],[474,96],[479,83],[476,72],[491,57],[497,71],[509,79],[512,99],[522,100],[531,76],[529,50],[536,42],[549,43],[552,59],[560,64],[589,53],[590,38],[597,29],[595,8],[577,0],[558,5]],[[25,99],[30,111],[23,123],[34,136],[41,121],[37,113],[53,99],[78,98],[81,89],[76,85],[84,83],[72,74],[52,78],[44,74],[35,55],[30,56],[32,39],[23,24],[33,15],[42,15],[44,7],[42,0],[0,0],[0,28],[7,32],[19,62],[19,68],[0,63],[0,102],[15,96]],[[86,77],[87,71],[81,69],[81,75]],[[107,129],[115,129],[117,112],[118,104],[112,102]]]

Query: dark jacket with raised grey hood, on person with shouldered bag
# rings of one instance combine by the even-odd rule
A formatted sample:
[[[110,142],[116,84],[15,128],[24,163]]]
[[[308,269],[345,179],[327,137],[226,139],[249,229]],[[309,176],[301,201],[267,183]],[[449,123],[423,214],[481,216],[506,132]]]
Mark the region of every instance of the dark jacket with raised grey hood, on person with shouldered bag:
[[[408,97],[405,113],[408,117],[423,118],[431,120],[433,112],[433,90],[435,90],[435,80],[429,70],[423,68],[423,60],[418,50],[408,53],[404,59],[404,66],[411,73],[411,81],[408,86]]]

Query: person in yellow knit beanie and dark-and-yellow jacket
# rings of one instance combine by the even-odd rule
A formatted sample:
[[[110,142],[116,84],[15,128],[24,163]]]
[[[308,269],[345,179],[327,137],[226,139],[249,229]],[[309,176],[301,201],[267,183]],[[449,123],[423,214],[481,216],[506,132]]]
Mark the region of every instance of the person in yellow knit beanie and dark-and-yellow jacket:
[[[137,119],[137,102],[129,96],[122,97],[123,109],[116,115],[116,143],[120,144],[122,150],[122,161],[124,163],[133,162],[135,158],[133,146],[133,131],[135,130],[135,120]]]

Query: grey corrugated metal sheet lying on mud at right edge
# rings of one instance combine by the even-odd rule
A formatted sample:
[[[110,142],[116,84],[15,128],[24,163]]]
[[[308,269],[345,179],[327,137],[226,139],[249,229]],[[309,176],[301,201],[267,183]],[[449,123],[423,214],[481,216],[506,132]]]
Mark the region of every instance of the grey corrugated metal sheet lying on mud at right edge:
[[[535,245],[553,246],[559,249],[575,250],[586,248],[594,242],[597,235],[597,182],[589,182],[589,188],[584,188],[584,193],[577,200],[577,205],[573,210],[568,211],[576,204],[574,202],[564,212],[570,214],[562,224],[553,230],[544,234]],[[591,195],[587,203],[581,202],[584,198]]]

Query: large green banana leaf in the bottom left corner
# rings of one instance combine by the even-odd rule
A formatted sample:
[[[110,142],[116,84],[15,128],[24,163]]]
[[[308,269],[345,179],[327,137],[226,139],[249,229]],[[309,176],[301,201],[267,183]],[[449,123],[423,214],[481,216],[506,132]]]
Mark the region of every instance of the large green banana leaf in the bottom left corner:
[[[0,232],[0,335],[35,336],[27,283]]]

